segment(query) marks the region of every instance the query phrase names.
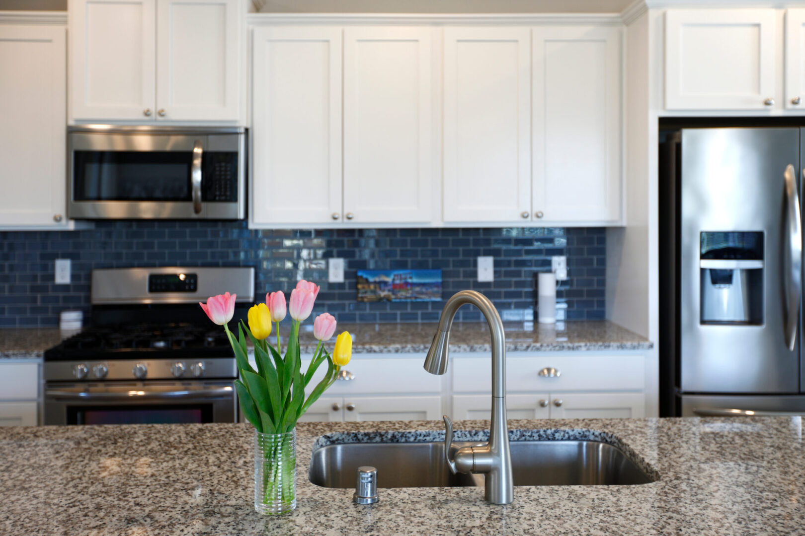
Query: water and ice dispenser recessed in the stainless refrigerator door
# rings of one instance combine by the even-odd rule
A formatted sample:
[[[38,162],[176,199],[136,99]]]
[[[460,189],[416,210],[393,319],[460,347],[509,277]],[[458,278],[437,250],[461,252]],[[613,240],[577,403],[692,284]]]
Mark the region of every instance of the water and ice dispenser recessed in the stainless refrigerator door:
[[[702,324],[763,323],[763,232],[703,232]]]

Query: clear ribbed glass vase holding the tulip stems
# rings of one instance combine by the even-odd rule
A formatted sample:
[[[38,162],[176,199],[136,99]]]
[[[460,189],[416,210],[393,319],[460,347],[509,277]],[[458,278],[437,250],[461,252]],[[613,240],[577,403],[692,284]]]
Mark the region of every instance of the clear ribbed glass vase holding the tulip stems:
[[[284,434],[254,431],[254,509],[266,515],[296,508],[296,428]]]

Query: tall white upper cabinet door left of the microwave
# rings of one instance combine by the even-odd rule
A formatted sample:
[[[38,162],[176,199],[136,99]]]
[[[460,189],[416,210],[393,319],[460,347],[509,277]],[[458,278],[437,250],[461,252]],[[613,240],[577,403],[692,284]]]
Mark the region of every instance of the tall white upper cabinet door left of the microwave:
[[[0,26],[0,226],[67,223],[66,39],[64,27]]]

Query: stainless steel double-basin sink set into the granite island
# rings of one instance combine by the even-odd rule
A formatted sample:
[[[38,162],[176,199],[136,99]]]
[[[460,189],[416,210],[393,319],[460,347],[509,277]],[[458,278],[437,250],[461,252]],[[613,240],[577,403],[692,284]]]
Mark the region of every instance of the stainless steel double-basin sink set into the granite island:
[[[453,448],[477,443],[456,442]],[[655,479],[613,445],[591,440],[511,441],[514,485],[633,485]],[[484,485],[452,474],[442,443],[345,443],[313,452],[308,477],[325,488],[354,488],[361,465],[378,469],[378,488]]]

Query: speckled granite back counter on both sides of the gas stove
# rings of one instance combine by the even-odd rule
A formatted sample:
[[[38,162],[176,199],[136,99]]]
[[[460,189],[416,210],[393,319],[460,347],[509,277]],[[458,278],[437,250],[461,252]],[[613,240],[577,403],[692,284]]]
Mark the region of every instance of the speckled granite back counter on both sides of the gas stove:
[[[287,326],[283,326],[285,328]],[[306,329],[310,328],[310,329]],[[338,325],[338,333],[353,335],[355,354],[423,354],[436,333],[436,322],[399,324]],[[214,326],[211,325],[211,329]],[[556,350],[650,350],[648,339],[611,321],[568,321],[564,329],[555,325],[506,322],[506,351],[539,352]],[[283,329],[283,340],[287,333]],[[0,359],[42,358],[44,350],[56,346],[64,332],[57,328],[0,329]],[[272,336],[273,338],[273,336]],[[300,334],[303,353],[316,349],[312,323],[303,325]],[[335,339],[328,344],[332,345]],[[450,332],[452,352],[489,352],[489,327],[485,322],[456,322]]]

